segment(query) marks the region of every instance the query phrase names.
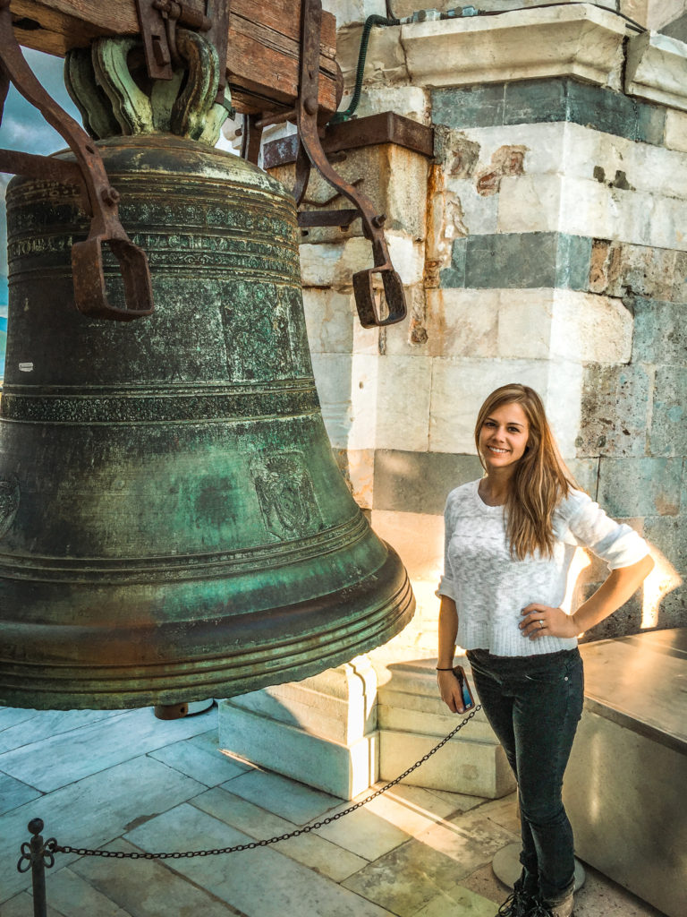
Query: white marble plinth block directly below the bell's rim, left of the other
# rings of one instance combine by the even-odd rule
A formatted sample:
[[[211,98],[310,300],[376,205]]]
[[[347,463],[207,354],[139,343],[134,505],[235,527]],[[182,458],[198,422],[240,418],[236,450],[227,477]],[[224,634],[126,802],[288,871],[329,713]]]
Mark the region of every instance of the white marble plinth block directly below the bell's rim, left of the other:
[[[376,673],[368,657],[220,703],[220,747],[352,799],[377,779]]]

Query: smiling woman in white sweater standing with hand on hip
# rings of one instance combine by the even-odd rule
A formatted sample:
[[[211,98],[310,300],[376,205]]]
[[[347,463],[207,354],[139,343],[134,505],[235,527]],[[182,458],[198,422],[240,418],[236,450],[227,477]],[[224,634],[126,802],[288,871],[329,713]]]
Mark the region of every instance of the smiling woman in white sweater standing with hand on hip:
[[[523,869],[498,914],[571,917],[573,832],[561,790],[583,705],[577,635],[627,602],[653,562],[636,532],[577,488],[529,386],[492,392],[474,436],[486,476],[446,502],[439,690],[463,713],[452,670],[457,642],[518,781]],[[610,573],[571,613],[566,592],[578,545]]]

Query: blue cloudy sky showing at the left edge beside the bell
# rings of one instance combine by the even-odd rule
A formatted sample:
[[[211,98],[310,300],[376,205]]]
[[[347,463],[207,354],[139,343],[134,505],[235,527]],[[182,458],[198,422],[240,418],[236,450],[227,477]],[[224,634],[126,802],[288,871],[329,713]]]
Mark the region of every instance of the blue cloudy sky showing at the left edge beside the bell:
[[[24,49],[24,55],[33,72],[58,102],[72,117],[81,123],[79,111],[71,101],[62,80],[61,58],[42,54],[40,51]],[[47,156],[66,146],[60,134],[45,121],[38,109],[30,105],[10,86],[5,99],[5,111],[0,125],[0,148],[21,149],[27,153]],[[11,175],[0,172],[0,378],[5,362],[5,339],[7,323],[7,233],[5,226],[5,188]]]

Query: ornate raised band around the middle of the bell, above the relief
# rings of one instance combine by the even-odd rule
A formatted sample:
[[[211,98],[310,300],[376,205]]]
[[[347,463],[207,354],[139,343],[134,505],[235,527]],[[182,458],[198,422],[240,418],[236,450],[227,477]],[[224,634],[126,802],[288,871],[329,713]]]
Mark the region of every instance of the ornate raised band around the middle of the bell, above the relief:
[[[2,416],[25,424],[228,423],[292,417],[320,409],[314,381],[303,387],[198,394],[69,395],[3,392]]]

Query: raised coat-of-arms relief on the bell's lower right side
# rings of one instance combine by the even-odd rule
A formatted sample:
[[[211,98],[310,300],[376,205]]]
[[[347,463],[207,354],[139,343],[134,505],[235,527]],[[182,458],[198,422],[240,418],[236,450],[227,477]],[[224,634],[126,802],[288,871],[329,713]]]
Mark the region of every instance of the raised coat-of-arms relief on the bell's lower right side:
[[[268,532],[285,540],[322,527],[311,475],[300,452],[253,458],[250,473]]]

